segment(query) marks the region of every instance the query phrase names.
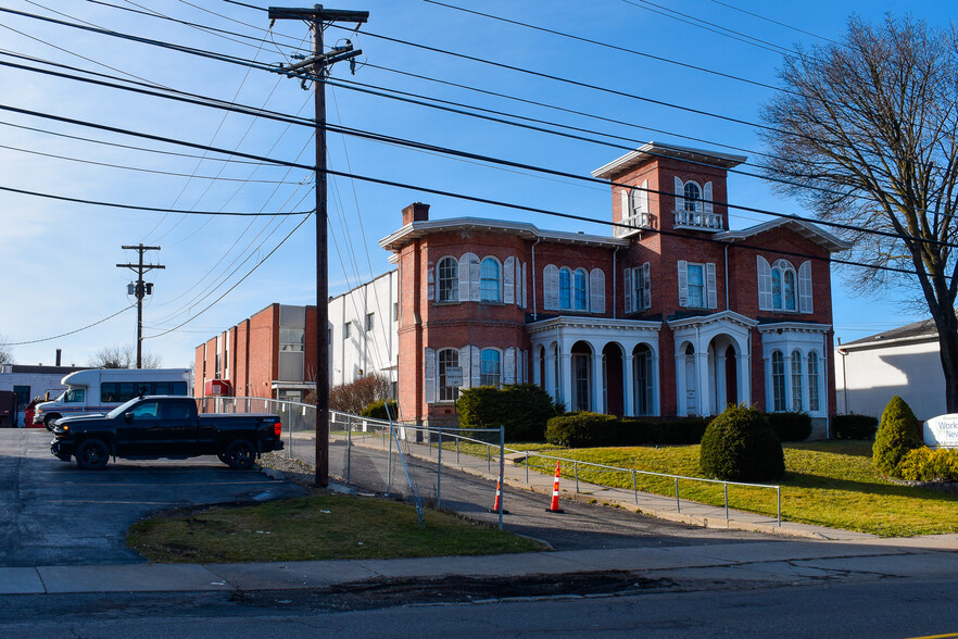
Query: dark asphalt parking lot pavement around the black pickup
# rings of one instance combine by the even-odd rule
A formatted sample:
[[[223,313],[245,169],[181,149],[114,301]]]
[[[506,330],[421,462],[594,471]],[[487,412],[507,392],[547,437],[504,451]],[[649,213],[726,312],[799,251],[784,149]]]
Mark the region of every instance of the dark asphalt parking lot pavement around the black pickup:
[[[129,564],[126,530],[165,510],[266,501],[305,489],[215,456],[113,460],[99,472],[50,454],[46,429],[0,429],[0,566]]]

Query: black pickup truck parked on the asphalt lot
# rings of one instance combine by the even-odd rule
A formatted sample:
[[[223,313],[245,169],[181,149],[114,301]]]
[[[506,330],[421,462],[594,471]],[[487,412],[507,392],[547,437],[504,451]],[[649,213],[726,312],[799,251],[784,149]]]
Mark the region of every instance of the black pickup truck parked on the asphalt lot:
[[[282,450],[279,417],[198,414],[188,397],[139,397],[105,415],[54,422],[50,452],[80,468],[100,469],[110,456],[185,459],[215,454],[230,468],[249,468],[260,453]]]

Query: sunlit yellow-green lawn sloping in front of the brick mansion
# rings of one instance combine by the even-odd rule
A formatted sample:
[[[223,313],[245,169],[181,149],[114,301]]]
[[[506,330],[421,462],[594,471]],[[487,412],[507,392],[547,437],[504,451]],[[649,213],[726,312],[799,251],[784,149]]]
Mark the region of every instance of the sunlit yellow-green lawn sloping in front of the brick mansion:
[[[526,447],[510,444],[509,448]],[[528,447],[546,452],[541,444]],[[782,517],[792,522],[831,528],[872,532],[883,537],[909,537],[958,532],[958,498],[934,490],[892,484],[871,465],[871,442],[828,441],[786,443],[785,478],[782,486]],[[484,451],[482,451],[484,455]],[[698,469],[698,446],[629,447],[600,449],[551,449],[547,454],[690,477],[703,477]],[[555,462],[531,456],[530,469],[550,473]],[[569,464],[564,477],[572,477]],[[579,466],[579,479],[603,486],[632,488],[632,474]],[[639,490],[675,494],[671,478],[636,475]],[[721,505],[721,485],[680,480],[682,499]],[[776,514],[776,493],[771,489],[729,487],[733,509]]]

